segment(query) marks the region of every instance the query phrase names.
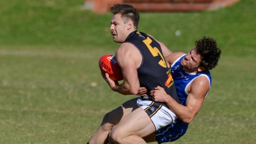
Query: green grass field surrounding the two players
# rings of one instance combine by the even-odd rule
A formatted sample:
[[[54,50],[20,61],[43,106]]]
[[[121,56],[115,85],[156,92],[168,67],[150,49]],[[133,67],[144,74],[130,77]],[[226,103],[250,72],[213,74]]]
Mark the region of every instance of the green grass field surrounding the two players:
[[[134,98],[112,92],[98,69],[98,59],[119,46],[108,29],[111,13],[82,5],[0,1],[0,144],[84,144],[105,113]],[[223,50],[202,110],[173,144],[255,143],[255,7],[241,0],[203,13],[141,13],[139,30],[174,52],[203,35]]]

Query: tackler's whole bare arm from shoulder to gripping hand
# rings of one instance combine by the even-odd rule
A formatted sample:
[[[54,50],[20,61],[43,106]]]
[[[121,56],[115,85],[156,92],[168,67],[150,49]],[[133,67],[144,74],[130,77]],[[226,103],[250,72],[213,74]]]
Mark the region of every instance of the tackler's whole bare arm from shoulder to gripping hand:
[[[180,120],[189,123],[200,111],[204,97],[210,89],[210,83],[207,78],[200,76],[196,78],[188,88],[186,106],[177,103],[171,96],[165,93],[162,87],[156,87],[150,91],[150,95],[156,102],[165,102],[169,108],[176,114]]]

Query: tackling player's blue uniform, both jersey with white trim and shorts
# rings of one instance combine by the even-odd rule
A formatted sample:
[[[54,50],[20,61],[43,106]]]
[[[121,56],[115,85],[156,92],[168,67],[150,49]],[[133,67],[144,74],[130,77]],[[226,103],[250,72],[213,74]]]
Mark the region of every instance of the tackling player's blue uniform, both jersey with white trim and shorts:
[[[174,63],[171,65],[171,74],[174,79],[174,84],[177,90],[178,98],[182,105],[186,105],[187,100],[187,87],[195,78],[199,76],[205,76],[208,78],[211,85],[211,75],[208,70],[198,73],[187,73],[184,70],[184,67],[180,64],[181,60],[186,56],[186,54],[180,56]],[[158,144],[163,142],[173,142],[180,137],[182,137],[188,128],[188,124],[182,122],[179,118],[176,119],[175,123],[169,124],[165,127],[160,128],[156,131],[156,140]]]

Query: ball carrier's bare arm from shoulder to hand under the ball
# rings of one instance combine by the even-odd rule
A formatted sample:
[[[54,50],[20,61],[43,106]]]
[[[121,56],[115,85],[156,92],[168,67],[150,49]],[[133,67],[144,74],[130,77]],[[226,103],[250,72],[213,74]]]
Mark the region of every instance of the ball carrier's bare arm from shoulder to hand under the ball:
[[[139,79],[137,76],[137,67],[141,63],[141,54],[130,43],[121,44],[116,52],[117,62],[122,69],[124,82],[119,85],[108,79],[112,90],[124,95],[137,94],[139,91]]]

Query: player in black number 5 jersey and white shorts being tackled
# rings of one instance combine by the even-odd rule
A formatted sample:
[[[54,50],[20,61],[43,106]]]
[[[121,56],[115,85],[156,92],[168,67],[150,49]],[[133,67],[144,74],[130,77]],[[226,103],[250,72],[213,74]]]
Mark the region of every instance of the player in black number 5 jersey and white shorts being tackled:
[[[116,4],[111,7],[111,11],[114,15],[110,30],[113,40],[121,43],[116,51],[116,57],[124,77],[123,83],[119,84],[111,81],[106,74],[104,79],[111,89],[124,95],[134,95],[138,93],[139,87],[145,87],[150,92],[161,86],[169,96],[180,103],[168,69],[169,65],[164,59],[171,51],[150,35],[137,31],[139,13],[134,7]],[[88,143],[107,143],[109,134],[114,143],[143,144],[146,142],[142,137],[173,123],[176,119],[176,115],[165,103],[154,102],[149,94],[127,103],[136,102],[137,105],[132,107],[126,107],[124,103],[106,114],[101,126]],[[120,113],[121,116],[115,117]],[[113,129],[108,129],[113,126]]]

